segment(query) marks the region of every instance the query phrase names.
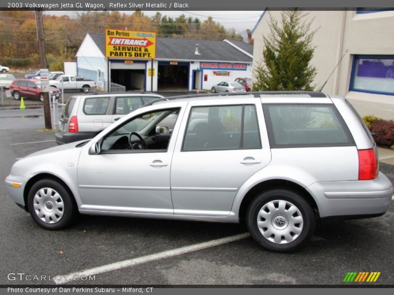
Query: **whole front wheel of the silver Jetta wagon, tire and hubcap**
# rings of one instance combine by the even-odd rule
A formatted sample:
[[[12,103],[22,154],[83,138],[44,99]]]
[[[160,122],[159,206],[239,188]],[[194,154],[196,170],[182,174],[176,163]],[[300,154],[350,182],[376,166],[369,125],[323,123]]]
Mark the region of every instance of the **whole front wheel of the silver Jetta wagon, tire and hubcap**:
[[[77,207],[66,188],[52,179],[37,181],[29,191],[28,208],[33,220],[47,230],[66,228]]]

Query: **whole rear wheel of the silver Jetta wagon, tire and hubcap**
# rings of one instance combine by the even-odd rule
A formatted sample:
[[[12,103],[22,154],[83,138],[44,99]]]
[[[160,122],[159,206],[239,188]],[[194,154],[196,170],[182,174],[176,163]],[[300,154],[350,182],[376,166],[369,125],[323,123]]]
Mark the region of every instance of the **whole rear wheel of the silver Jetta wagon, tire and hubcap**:
[[[284,203],[287,207],[286,212],[290,215],[290,218],[289,216],[286,217],[286,215],[283,215],[285,216],[284,219],[281,218],[281,214],[279,214],[279,203],[276,203],[276,201],[285,201]],[[263,210],[264,206],[266,207],[268,204],[274,205],[274,207],[275,204],[278,204],[278,207],[275,207],[275,210],[278,211],[275,212],[274,210],[272,210],[273,212],[271,213],[271,210],[268,208],[266,209],[268,210],[268,212],[265,211],[267,218],[259,216],[259,212]],[[295,206],[298,211],[291,214],[289,210],[290,208],[292,208],[291,205]],[[292,210],[294,210],[294,208],[292,208]],[[301,215],[302,221],[301,223],[293,223],[298,229],[300,229],[300,233],[296,234],[295,232],[291,232],[291,228],[294,228],[294,226],[292,226],[291,224],[292,222],[294,222],[293,219],[298,218],[298,212]],[[263,215],[264,214],[265,213],[263,212]],[[289,219],[292,220],[289,221]],[[273,232],[271,236],[263,236],[263,232],[266,236],[268,236],[270,231],[268,228],[265,228],[263,226],[260,230],[258,226],[258,220],[259,222],[262,222],[261,225],[263,224],[270,226],[270,231]],[[279,225],[279,227],[282,226],[283,229],[279,230],[278,228],[275,228],[278,227],[278,223],[276,223],[276,221],[278,221],[279,224],[281,224],[281,222],[283,221],[283,223]],[[263,192],[252,201],[246,213],[246,224],[251,236],[265,249],[275,252],[293,252],[304,246],[307,241],[313,236],[316,226],[316,220],[311,206],[302,198],[300,194],[286,189],[272,189]],[[282,230],[284,234],[286,234],[286,232],[290,232],[290,239],[294,239],[291,241],[286,241],[286,237],[281,235]],[[276,236],[281,238],[280,243],[276,243],[275,241],[270,240],[275,237],[275,233],[277,234]]]

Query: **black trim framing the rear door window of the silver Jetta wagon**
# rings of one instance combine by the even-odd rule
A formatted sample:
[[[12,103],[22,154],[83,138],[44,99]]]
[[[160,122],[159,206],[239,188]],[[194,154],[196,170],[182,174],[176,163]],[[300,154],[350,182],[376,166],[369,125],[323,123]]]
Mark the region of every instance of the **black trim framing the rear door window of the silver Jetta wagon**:
[[[191,117],[191,115],[192,115],[192,109],[193,108],[207,108],[207,107],[234,107],[234,106],[242,106],[242,113],[241,113],[241,139],[242,140],[240,140],[240,146],[242,145],[243,146],[243,118],[244,118],[244,109],[245,109],[245,106],[253,106],[253,107],[255,107],[255,116],[256,116],[256,122],[257,122],[257,131],[258,131],[258,134],[259,134],[259,144],[260,144],[260,147],[257,147],[257,148],[244,148],[244,147],[242,147],[242,148],[211,148],[211,149],[184,149],[184,145],[185,145],[185,138],[186,138],[186,133],[187,133],[187,128],[188,128],[188,126],[189,126],[189,120],[190,120],[190,117]],[[187,120],[187,122],[186,122],[186,127],[185,127],[185,132],[184,132],[184,134],[183,134],[183,139],[182,139],[182,147],[181,147],[181,152],[193,152],[193,151],[214,151],[214,150],[242,150],[242,149],[263,149],[263,144],[262,144],[262,136],[261,136],[261,133],[260,133],[260,126],[259,126],[259,118],[258,118],[258,116],[257,116],[257,105],[256,104],[232,104],[232,105],[201,105],[201,106],[192,106],[191,108],[190,108],[190,112],[189,112],[189,118],[188,118],[188,120]]]

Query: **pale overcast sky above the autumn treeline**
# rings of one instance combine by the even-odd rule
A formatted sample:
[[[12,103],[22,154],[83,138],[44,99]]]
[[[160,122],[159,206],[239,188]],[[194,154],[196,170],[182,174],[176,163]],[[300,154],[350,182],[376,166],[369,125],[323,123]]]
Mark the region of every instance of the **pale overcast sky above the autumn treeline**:
[[[120,13],[133,13],[134,11],[119,11]],[[145,15],[155,15],[157,11],[143,11]],[[212,16],[214,20],[221,23],[226,29],[234,28],[238,33],[246,29],[253,29],[259,20],[263,11],[159,11],[163,16],[176,17],[185,14],[186,17],[197,17],[202,21],[208,16]],[[46,14],[73,16],[72,11],[48,11]]]

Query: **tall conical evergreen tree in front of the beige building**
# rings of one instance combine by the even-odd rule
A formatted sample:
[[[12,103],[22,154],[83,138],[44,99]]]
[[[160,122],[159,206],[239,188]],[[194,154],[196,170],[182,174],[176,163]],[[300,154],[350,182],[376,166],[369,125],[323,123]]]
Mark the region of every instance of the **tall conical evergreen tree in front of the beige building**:
[[[311,83],[316,68],[309,63],[315,47],[316,30],[311,30],[313,19],[305,21],[309,13],[286,10],[281,23],[269,14],[269,35],[263,36],[263,62],[254,69],[255,91],[313,90]]]

